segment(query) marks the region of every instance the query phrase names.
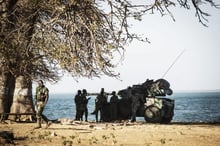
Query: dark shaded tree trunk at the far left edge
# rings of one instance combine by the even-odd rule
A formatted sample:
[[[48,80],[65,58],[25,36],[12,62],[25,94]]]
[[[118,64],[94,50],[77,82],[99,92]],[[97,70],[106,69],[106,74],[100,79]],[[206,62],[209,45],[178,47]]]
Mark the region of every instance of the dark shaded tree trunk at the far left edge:
[[[0,113],[9,113],[13,98],[15,79],[9,73],[2,73],[0,76]],[[1,117],[6,120],[7,115]]]

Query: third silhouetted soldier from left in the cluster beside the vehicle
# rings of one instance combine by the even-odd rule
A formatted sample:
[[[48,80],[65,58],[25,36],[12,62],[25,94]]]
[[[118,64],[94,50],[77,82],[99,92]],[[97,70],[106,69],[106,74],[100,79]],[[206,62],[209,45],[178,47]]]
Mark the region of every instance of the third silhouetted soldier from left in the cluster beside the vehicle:
[[[98,113],[100,111],[100,121],[103,121],[105,119],[105,114],[104,114],[104,106],[107,104],[107,95],[105,94],[104,88],[101,89],[100,94],[96,97],[95,100],[95,117],[96,117],[96,122],[98,122]]]

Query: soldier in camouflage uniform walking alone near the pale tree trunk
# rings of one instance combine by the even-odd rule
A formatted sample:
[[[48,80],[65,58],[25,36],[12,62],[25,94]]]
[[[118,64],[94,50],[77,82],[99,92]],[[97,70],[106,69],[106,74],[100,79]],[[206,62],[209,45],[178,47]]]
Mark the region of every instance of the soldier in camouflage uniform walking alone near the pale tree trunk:
[[[37,127],[35,129],[41,128],[41,119],[46,122],[46,128],[50,126],[49,120],[45,115],[43,115],[44,107],[47,104],[49,98],[49,90],[45,87],[42,80],[38,81],[38,87],[36,88],[35,95],[35,105],[36,105],[36,117],[37,117]]]

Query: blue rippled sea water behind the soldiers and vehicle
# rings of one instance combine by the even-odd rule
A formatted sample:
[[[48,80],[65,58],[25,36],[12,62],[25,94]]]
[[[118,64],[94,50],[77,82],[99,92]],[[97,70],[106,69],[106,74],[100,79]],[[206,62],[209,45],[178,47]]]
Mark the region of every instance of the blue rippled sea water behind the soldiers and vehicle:
[[[75,119],[74,94],[51,94],[44,109],[49,119]],[[95,121],[91,113],[95,108],[95,96],[88,103],[88,120]],[[174,117],[171,122],[215,123],[220,122],[220,92],[177,92],[166,96],[175,100]],[[108,100],[109,101],[109,100]],[[137,117],[137,121],[145,121]]]

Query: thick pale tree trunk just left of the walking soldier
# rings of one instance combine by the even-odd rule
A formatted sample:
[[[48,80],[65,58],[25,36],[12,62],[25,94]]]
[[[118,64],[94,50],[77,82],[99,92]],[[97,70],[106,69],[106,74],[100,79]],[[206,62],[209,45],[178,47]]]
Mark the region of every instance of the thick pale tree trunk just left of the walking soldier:
[[[14,97],[10,113],[17,114],[10,115],[9,118],[12,120],[32,121],[33,115],[19,115],[24,113],[35,113],[32,99],[32,81],[27,80],[24,76],[18,76],[16,78]]]

